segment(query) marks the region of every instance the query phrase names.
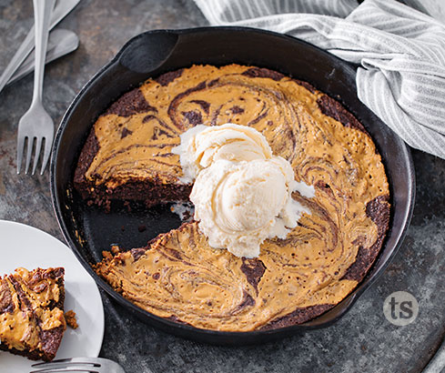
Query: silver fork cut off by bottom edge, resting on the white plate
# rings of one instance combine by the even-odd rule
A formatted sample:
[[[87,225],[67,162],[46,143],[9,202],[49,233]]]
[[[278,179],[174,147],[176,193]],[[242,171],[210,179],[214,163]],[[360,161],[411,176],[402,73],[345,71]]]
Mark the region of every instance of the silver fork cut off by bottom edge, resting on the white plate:
[[[126,373],[115,361],[107,358],[62,358],[49,363],[31,366],[38,368],[30,373],[90,372],[90,373]]]

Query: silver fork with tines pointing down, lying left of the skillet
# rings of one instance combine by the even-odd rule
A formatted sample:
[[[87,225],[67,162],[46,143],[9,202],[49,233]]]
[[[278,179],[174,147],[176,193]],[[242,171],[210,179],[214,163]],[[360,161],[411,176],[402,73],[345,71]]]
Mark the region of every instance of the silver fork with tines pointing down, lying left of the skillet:
[[[42,105],[42,90],[45,73],[46,46],[48,42],[49,22],[56,0],[34,0],[35,15],[35,73],[34,73],[34,93],[33,101],[28,111],[20,118],[18,123],[17,136],[17,174],[20,174],[22,156],[26,146],[25,174],[28,173],[31,163],[31,155],[35,141],[35,156],[33,165],[33,175],[37,167],[42,142],[45,140],[45,150],[42,160],[42,175],[45,171],[51,153],[51,146],[54,137],[54,122],[51,116],[46,113]]]

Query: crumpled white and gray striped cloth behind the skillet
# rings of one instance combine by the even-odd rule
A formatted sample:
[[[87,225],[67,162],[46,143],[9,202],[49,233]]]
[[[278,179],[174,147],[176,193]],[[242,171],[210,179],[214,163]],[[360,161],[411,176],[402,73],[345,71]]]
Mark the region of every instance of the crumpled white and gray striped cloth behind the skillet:
[[[296,36],[360,65],[359,99],[410,146],[445,158],[445,25],[395,0],[195,0],[210,25]]]

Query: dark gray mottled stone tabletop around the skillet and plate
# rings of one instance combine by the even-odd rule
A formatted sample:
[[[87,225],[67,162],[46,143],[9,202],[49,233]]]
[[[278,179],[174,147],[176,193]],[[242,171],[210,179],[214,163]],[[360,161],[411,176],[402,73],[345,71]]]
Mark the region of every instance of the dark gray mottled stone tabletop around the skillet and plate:
[[[442,0],[437,0],[441,2]],[[0,0],[0,71],[33,24],[30,0]],[[206,25],[191,0],[83,0],[60,24],[80,47],[47,66],[45,105],[56,123],[76,92],[127,39],[155,28]],[[48,173],[15,175],[15,134],[31,102],[32,76],[0,94],[0,218],[62,239]],[[335,326],[263,346],[220,348],[175,338],[131,317],[103,294],[106,335],[101,356],[126,371],[147,372],[420,372],[445,334],[445,161],[414,151],[417,202],[404,244],[386,272]],[[384,318],[383,300],[410,291],[420,314],[407,327]],[[0,363],[1,364],[1,363]]]

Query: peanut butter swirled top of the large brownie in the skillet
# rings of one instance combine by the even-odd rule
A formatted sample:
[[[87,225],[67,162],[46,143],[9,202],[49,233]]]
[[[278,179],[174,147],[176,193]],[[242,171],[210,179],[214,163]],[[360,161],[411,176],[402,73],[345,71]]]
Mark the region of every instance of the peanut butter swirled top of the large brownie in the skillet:
[[[94,126],[98,150],[85,177],[96,186],[180,185],[178,136],[231,122],[266,136],[316,196],[293,194],[311,214],[286,239],[265,241],[257,259],[209,247],[188,223],[148,247],[106,253],[96,271],[112,287],[162,318],[248,331],[314,318],[358,285],[388,229],[389,186],[370,136],[343,106],[303,82],[238,65],[192,66],[136,92],[134,104],[117,101]]]

